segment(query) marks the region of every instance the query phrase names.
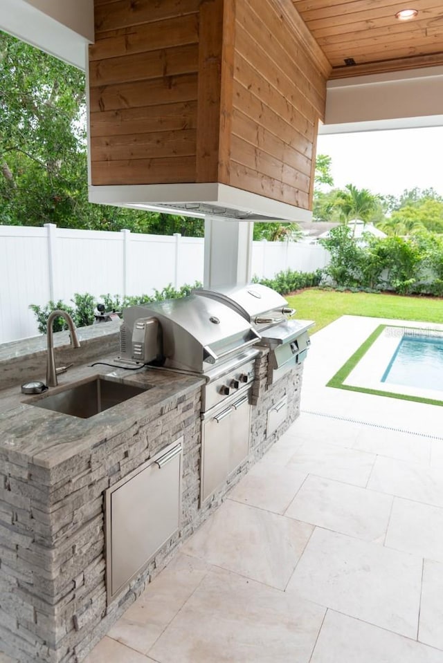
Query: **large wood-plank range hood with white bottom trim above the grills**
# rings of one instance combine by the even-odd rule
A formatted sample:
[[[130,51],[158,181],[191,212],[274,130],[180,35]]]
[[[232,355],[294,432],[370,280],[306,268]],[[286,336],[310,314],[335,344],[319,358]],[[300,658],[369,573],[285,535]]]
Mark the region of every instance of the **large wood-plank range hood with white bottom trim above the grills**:
[[[331,71],[291,0],[95,0],[93,203],[309,221]]]

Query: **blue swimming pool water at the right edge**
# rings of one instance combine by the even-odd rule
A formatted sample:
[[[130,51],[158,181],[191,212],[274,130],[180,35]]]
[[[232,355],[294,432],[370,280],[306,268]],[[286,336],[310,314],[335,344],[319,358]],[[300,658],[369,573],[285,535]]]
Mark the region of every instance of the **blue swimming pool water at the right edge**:
[[[404,336],[381,382],[443,391],[443,337]]]

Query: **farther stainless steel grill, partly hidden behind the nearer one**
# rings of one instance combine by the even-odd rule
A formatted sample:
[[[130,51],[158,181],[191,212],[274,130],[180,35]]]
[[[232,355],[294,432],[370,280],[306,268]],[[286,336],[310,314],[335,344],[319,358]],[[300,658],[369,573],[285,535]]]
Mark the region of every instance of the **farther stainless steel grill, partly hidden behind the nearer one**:
[[[195,295],[229,306],[260,334],[260,344],[270,348],[269,383],[273,384],[301,364],[307,355],[310,339],[307,330],[312,320],[289,320],[295,311],[284,297],[260,283],[246,286],[194,290]]]

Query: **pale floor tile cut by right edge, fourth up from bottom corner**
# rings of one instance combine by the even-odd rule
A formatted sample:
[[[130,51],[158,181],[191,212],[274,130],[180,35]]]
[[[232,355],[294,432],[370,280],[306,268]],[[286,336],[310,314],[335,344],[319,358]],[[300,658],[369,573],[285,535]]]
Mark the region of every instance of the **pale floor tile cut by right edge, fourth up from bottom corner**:
[[[443,507],[443,481],[439,467],[379,456],[375,461],[368,488]]]

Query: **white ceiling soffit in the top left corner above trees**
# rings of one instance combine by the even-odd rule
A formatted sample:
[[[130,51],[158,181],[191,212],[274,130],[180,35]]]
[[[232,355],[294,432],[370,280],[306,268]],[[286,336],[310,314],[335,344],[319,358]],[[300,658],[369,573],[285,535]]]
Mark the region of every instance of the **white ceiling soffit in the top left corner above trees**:
[[[0,29],[84,70],[93,0],[1,0]]]

